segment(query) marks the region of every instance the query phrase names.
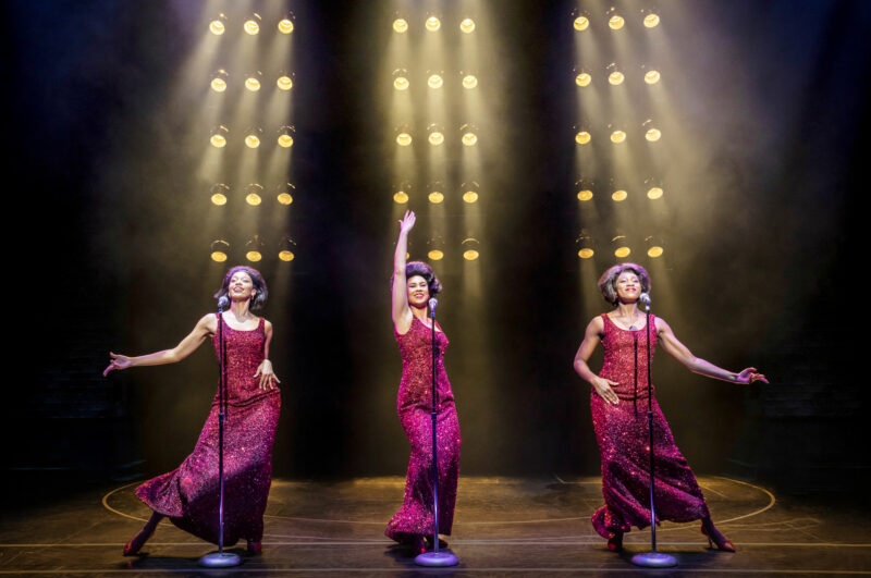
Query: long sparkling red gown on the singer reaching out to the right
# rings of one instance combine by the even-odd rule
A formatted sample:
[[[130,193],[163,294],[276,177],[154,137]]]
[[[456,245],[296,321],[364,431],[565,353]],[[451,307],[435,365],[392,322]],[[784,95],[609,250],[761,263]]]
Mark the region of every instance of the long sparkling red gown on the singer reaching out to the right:
[[[650,436],[647,420],[647,328],[628,331],[603,315],[604,365],[599,376],[618,382],[612,389],[617,405],[590,393],[592,425],[602,453],[602,495],[605,505],[592,515],[596,531],[604,538],[650,525]],[[650,316],[651,360],[657,346],[654,317]],[[636,379],[637,377],[637,379]],[[691,521],[709,515],[701,489],[686,458],[675,445],[668,422],[653,394],[653,470],[658,520]]]

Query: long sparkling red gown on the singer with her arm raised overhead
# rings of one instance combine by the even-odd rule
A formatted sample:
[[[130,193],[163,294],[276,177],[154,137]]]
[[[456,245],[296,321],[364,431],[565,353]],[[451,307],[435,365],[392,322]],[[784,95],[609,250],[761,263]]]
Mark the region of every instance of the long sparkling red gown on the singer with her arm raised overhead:
[[[388,524],[384,533],[401,543],[410,543],[416,536],[432,536],[432,330],[419,319],[412,320],[407,333],[393,335],[402,355],[402,382],[396,399],[400,422],[412,456],[405,478],[402,507]],[[436,332],[437,442],[439,452],[439,533],[451,534],[459,474],[459,420],[454,394],[444,371],[447,337]]]

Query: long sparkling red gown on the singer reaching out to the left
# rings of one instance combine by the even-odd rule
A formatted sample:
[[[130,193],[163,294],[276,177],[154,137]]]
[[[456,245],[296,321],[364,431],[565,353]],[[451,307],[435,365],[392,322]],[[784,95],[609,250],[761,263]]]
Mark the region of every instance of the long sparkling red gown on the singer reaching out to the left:
[[[272,444],[281,408],[278,388],[260,390],[254,373],[263,360],[263,319],[252,331],[234,330],[222,319],[226,342],[228,411],[224,421],[224,545],[240,539],[259,542],[272,481]],[[218,332],[212,339],[218,355]],[[148,507],[179,528],[218,543],[218,406],[219,394],[194,453],[177,469],[136,489]]]

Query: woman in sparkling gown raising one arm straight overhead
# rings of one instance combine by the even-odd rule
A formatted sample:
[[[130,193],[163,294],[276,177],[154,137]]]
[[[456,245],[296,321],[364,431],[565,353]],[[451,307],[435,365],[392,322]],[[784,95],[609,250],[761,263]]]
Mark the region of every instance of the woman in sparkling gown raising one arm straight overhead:
[[[412,456],[405,478],[402,507],[388,524],[384,533],[415,552],[426,552],[425,540],[432,548],[432,320],[427,305],[442,286],[424,262],[405,263],[408,232],[415,213],[406,211],[400,221],[400,239],[393,257],[393,336],[402,355],[402,382],[396,401],[400,422]],[[439,444],[439,530],[451,536],[459,470],[459,421],[454,407],[451,383],[444,371],[447,337],[436,324],[437,359],[437,441]],[[440,543],[442,541],[440,540]],[[446,545],[446,544],[444,544]]]

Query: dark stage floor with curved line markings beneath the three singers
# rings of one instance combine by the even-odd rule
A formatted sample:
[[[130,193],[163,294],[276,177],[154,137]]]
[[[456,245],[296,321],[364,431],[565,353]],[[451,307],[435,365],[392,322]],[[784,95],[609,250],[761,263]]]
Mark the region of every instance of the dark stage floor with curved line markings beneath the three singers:
[[[699,524],[663,522],[659,550],[677,557],[671,570],[647,570],[629,558],[649,550],[650,531],[626,536],[622,554],[605,549],[590,514],[601,505],[598,478],[471,478],[459,480],[450,549],[454,569],[422,570],[410,552],[384,534],[402,502],[404,479],[343,482],[275,480],[269,496],[263,553],[231,570],[200,570],[214,548],[161,522],[136,557],[124,543],[149,514],[135,483],[57,497],[16,508],[0,521],[0,574],[160,576],[238,574],[354,575],[819,575],[871,574],[867,513],[799,499],[777,500],[764,488],[702,477],[714,521],[735,543],[729,554],[708,550]],[[59,482],[60,485],[60,482]]]

